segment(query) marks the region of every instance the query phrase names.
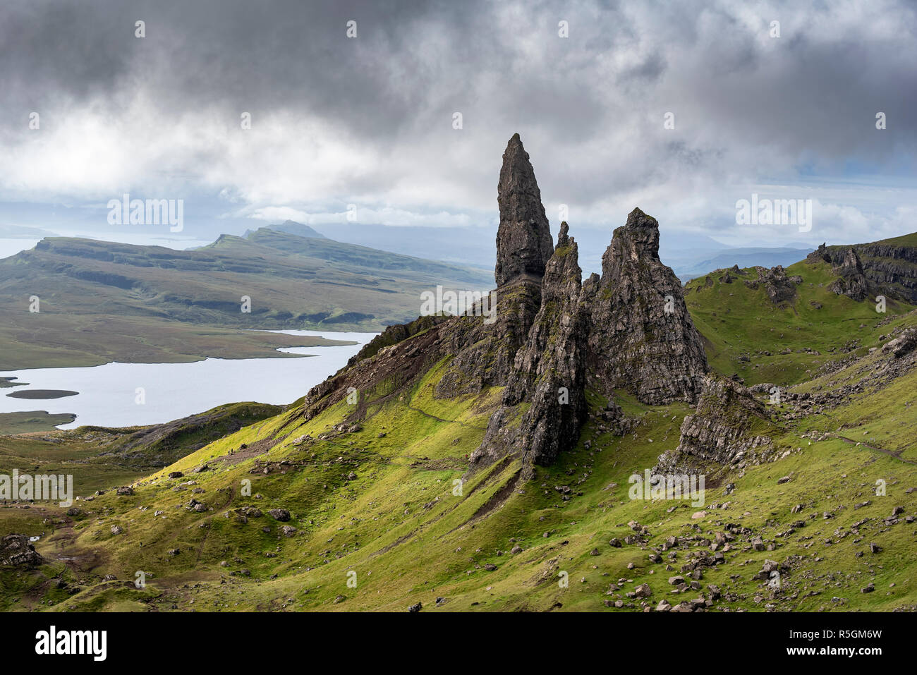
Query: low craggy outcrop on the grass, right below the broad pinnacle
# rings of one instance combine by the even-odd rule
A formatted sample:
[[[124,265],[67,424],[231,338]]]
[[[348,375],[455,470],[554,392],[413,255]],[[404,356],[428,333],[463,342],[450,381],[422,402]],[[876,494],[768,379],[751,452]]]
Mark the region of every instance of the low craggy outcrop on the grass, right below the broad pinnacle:
[[[655,473],[706,473],[711,467],[760,463],[777,427],[757,399],[738,382],[709,375],[697,410],[681,424],[679,446],[659,457]]]

